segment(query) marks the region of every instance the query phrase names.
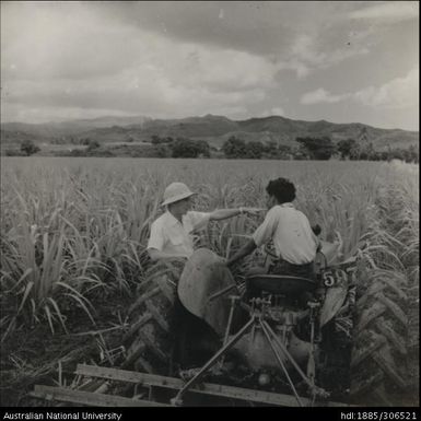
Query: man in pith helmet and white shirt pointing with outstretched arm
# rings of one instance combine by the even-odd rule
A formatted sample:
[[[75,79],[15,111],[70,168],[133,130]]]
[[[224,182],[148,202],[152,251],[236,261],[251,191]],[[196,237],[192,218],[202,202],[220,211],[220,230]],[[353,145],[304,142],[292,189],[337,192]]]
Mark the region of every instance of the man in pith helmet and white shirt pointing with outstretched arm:
[[[192,192],[184,183],[172,183],[164,191],[166,212],[151,227],[148,252],[152,260],[185,257],[194,253],[191,234],[207,226],[209,221],[236,217],[248,209],[218,209],[213,212],[190,210]]]

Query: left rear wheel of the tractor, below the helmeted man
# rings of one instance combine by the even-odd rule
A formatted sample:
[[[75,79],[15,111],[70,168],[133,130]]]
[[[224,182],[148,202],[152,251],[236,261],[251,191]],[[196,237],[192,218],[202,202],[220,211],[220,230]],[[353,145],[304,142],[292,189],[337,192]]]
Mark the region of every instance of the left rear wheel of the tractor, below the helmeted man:
[[[220,348],[220,338],[177,297],[174,277],[167,273],[141,284],[129,308],[130,329],[124,337],[121,369],[161,375],[201,366]]]

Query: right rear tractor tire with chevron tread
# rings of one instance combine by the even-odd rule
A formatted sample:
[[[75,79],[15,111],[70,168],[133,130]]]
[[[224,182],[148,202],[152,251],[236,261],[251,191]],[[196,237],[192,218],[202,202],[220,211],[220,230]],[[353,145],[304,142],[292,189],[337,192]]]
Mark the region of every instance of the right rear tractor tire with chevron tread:
[[[408,389],[408,304],[405,278],[358,276],[350,396],[362,406],[400,406]]]

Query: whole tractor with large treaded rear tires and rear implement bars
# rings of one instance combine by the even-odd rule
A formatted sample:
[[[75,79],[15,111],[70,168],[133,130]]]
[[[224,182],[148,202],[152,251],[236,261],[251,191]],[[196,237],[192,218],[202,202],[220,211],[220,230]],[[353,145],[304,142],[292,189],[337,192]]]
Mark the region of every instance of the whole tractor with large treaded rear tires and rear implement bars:
[[[244,276],[203,247],[152,266],[119,360],[78,364],[70,388],[31,395],[113,407],[393,407],[409,384],[396,363],[407,354],[406,295],[387,278],[367,282],[363,259],[341,261],[340,243],[320,243],[308,279]]]

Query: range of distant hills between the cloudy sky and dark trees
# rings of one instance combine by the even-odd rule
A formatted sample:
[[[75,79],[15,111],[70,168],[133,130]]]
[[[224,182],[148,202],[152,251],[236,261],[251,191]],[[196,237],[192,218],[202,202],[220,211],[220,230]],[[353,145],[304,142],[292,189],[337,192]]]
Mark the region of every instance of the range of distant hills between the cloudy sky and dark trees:
[[[294,144],[297,137],[330,137],[334,141],[352,138],[358,142],[372,142],[375,149],[408,148],[419,144],[419,132],[400,129],[379,129],[360,122],[335,124],[326,120],[304,121],[271,116],[231,120],[223,116],[206,115],[182,119],[151,119],[139,117],[101,117],[61,122],[30,125],[7,122],[1,125],[1,143],[12,144],[33,139],[34,142],[52,142],[70,138],[90,138],[101,143],[149,142],[152,136],[186,137],[206,140],[221,147],[231,136],[245,141],[276,141]]]

